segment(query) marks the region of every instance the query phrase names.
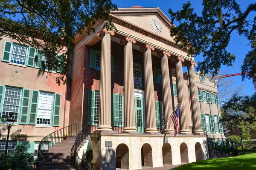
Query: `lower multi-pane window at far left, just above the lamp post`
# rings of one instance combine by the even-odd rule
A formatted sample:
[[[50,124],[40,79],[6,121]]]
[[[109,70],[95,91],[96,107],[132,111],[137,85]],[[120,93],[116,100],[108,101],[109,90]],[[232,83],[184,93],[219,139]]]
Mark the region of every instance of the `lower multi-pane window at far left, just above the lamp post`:
[[[17,121],[20,108],[20,96],[21,89],[6,87],[3,101],[2,122],[8,118],[9,113],[12,113],[15,121]]]

